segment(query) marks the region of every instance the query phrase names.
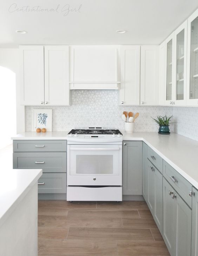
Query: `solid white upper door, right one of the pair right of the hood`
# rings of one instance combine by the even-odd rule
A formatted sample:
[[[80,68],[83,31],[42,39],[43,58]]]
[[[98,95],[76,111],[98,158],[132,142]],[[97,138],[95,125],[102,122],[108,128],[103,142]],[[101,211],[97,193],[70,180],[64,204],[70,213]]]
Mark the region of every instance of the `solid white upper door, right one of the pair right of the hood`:
[[[140,105],[159,104],[159,45],[141,46]]]

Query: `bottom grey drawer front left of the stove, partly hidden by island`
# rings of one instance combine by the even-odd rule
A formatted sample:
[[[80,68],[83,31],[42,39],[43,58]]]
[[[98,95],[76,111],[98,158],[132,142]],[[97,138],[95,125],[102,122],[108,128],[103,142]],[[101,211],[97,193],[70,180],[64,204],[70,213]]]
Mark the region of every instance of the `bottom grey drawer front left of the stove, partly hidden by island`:
[[[66,193],[66,188],[66,173],[43,173],[38,180],[38,193]]]

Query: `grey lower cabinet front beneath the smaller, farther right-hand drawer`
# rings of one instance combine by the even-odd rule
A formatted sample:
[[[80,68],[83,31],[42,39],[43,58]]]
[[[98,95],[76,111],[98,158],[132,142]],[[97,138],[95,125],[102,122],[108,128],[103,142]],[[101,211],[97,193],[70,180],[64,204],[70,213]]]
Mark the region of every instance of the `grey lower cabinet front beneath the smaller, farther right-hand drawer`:
[[[147,205],[162,233],[162,173],[147,159]]]

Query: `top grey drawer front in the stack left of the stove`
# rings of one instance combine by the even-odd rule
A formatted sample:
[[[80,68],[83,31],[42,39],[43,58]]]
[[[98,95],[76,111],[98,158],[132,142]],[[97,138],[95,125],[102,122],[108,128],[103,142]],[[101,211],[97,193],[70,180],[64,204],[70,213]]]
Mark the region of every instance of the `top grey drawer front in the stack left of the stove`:
[[[66,140],[14,140],[13,152],[66,152]]]

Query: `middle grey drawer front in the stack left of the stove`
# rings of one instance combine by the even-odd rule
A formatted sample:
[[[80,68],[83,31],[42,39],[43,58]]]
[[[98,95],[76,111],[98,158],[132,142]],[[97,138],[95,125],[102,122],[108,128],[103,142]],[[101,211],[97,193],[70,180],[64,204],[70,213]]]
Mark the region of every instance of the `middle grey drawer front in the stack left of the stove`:
[[[66,152],[13,153],[13,169],[66,172]]]

